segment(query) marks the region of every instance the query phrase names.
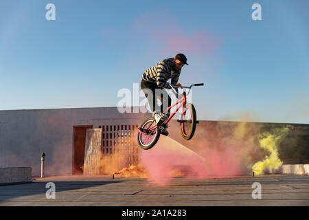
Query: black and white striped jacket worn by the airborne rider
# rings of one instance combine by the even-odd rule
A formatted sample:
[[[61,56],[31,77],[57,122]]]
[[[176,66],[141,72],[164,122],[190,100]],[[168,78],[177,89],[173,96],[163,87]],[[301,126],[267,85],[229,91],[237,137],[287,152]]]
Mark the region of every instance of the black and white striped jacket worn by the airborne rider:
[[[174,58],[167,58],[157,63],[157,65],[146,69],[141,78],[150,83],[157,83],[157,86],[160,88],[170,89],[170,85],[166,81],[171,78],[171,83],[174,85],[178,82],[181,74],[181,69],[178,71],[174,69],[173,60]]]

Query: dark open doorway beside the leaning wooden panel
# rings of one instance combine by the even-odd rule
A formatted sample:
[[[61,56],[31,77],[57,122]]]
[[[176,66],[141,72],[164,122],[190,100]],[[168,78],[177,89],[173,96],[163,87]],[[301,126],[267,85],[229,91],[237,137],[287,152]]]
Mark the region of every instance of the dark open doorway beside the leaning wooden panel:
[[[84,145],[86,143],[86,130],[92,125],[73,126],[73,174],[82,174],[84,166]]]

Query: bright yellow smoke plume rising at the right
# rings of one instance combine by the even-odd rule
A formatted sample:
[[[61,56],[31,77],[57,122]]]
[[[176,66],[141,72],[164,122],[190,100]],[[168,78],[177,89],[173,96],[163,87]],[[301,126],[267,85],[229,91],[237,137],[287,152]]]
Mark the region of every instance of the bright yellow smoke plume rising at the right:
[[[253,164],[252,169],[255,175],[262,174],[265,168],[272,167],[277,169],[283,164],[279,158],[278,145],[282,138],[288,134],[288,131],[288,127],[276,128],[271,132],[264,132],[259,136],[260,147],[264,148],[270,154],[266,155],[262,161]]]

